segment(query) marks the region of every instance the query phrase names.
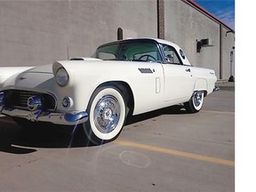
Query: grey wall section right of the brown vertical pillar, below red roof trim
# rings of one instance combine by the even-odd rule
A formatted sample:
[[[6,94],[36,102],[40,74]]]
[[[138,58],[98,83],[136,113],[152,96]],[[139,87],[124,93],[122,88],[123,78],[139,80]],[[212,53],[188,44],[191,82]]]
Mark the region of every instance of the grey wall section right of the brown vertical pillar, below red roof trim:
[[[164,14],[165,38],[179,44],[192,65],[213,68],[219,79],[228,79],[230,49],[234,46],[234,39],[229,36],[234,35],[230,34],[226,37],[227,29],[220,27],[220,23],[180,0],[164,1]],[[222,28],[221,44],[220,28]],[[212,46],[202,47],[200,52],[196,52],[196,41],[205,38],[212,40]],[[220,52],[222,59],[220,59]],[[222,61],[221,69],[220,60]]]

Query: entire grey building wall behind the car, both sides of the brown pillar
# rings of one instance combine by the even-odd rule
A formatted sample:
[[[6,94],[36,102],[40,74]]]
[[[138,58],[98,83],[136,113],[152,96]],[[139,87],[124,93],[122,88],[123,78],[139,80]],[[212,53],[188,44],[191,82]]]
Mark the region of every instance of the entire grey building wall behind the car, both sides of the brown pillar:
[[[213,68],[219,79],[235,75],[234,34],[226,36],[228,28],[183,0],[0,1],[0,67],[90,57],[97,46],[117,39],[117,28],[124,38],[157,37],[159,2],[166,40],[179,44],[194,66]],[[196,52],[196,40],[204,38],[212,46]]]

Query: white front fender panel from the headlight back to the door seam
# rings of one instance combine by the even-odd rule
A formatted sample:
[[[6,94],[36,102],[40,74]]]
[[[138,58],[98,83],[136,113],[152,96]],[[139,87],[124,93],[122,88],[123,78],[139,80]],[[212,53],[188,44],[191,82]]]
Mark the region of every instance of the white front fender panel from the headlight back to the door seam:
[[[60,67],[67,70],[69,82],[66,86],[58,89],[58,95],[66,95],[74,100],[72,110],[86,109],[92,92],[100,84],[109,82],[124,82],[129,85],[134,99],[133,115],[164,105],[164,86],[162,85],[164,84],[164,73],[162,65],[159,63],[62,60],[52,65],[53,73]],[[152,73],[143,73],[140,71],[141,68],[149,68]],[[156,101],[152,102],[152,100]]]

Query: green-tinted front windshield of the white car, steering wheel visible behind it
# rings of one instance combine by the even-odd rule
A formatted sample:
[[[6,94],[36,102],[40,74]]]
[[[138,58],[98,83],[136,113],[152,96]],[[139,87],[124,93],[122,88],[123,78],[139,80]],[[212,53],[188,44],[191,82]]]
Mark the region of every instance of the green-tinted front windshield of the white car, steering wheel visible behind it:
[[[100,60],[162,61],[157,45],[144,41],[103,45],[97,49],[93,57]]]

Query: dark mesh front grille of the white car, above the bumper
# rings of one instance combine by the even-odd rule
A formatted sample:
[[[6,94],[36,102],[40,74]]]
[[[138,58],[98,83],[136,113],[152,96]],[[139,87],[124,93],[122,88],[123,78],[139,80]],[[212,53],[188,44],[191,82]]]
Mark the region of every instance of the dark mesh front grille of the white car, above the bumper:
[[[5,103],[9,107],[15,108],[28,108],[28,98],[38,95],[42,100],[44,109],[55,109],[56,101],[49,93],[44,92],[31,92],[24,90],[6,90],[4,91]]]

